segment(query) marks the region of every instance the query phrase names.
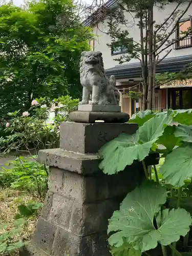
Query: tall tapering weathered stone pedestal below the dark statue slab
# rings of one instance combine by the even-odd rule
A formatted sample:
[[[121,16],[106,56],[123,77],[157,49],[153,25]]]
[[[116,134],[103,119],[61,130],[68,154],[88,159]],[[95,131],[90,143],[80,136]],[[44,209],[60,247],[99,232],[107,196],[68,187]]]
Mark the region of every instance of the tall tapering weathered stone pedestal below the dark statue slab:
[[[108,219],[144,172],[136,163],[118,175],[104,175],[97,152],[120,133],[136,130],[137,124],[131,123],[61,124],[60,148],[38,155],[40,162],[50,165],[49,191],[34,236],[20,255],[111,255],[106,241]]]

